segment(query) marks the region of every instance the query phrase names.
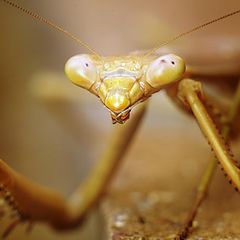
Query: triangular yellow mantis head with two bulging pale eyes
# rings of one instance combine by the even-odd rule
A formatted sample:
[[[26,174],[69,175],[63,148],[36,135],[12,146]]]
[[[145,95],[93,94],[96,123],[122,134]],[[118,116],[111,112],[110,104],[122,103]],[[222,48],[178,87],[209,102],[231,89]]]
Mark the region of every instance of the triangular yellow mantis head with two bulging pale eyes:
[[[76,55],[65,66],[68,78],[100,98],[113,123],[124,123],[137,103],[179,80],[184,61],[173,54],[145,61],[139,56]]]

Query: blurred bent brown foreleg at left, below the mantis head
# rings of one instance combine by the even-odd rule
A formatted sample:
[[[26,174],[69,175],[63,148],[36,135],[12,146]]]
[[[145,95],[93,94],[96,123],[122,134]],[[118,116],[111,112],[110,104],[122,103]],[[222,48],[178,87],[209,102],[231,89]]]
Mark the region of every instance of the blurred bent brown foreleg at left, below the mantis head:
[[[127,124],[115,126],[112,138],[97,166],[69,200],[49,188],[33,183],[0,161],[0,183],[11,193],[21,219],[45,222],[56,229],[78,226],[106,190],[140,125],[145,109],[146,103],[141,104]]]

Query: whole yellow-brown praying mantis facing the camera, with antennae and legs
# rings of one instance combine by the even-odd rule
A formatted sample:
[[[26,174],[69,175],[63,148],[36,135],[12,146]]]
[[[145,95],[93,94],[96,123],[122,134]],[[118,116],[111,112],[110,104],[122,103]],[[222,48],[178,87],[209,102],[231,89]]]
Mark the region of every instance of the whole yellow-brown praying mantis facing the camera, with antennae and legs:
[[[194,80],[202,73],[186,66],[184,60],[179,56],[168,54],[159,57],[156,54],[161,47],[170,42],[207,25],[237,15],[240,10],[194,27],[156,46],[147,53],[103,57],[73,34],[40,15],[11,1],[1,0],[1,2],[55,28],[89,50],[91,55],[81,54],[69,59],[65,72],[75,85],[88,90],[100,99],[109,110],[114,124],[124,124],[122,127],[116,126],[109,147],[103,153],[98,165],[85,183],[68,200],[53,190],[26,179],[1,161],[0,190],[6,202],[16,211],[16,220],[6,229],[4,237],[21,222],[45,222],[55,229],[70,229],[80,225],[89,209],[100,200],[107,183],[116,171],[117,165],[144,116],[147,107],[146,100],[161,90],[165,90],[181,109],[190,112],[196,118],[229,181],[237,191],[240,190],[239,166],[233,159],[225,140],[230,137],[230,130],[238,116],[240,88],[237,88],[233,104],[226,116],[227,122],[220,124],[220,133],[214,124],[215,117],[206,104],[207,96],[202,88],[202,83]],[[212,73],[205,74],[205,77],[213,75]],[[239,72],[236,73],[236,77],[238,76]],[[138,111],[133,117],[130,117],[130,112],[135,106],[138,106]],[[176,233],[175,239],[185,239],[188,236],[215,168],[216,161],[213,160],[209,163],[200,184],[189,217],[179,233]]]

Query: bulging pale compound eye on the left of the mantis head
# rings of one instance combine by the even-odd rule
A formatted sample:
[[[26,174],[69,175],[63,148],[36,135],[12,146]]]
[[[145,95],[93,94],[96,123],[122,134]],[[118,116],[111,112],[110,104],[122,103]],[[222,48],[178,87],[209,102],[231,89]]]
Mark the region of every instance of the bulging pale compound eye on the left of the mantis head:
[[[76,55],[65,65],[67,77],[76,85],[89,90],[98,80],[97,67],[89,55]]]

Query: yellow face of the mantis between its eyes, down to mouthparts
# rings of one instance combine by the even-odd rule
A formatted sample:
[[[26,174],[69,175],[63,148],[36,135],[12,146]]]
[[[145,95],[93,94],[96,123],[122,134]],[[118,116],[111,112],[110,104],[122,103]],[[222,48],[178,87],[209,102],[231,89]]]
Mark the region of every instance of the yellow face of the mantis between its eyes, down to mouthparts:
[[[131,107],[144,96],[139,83],[143,75],[140,59],[129,56],[104,58],[98,71],[98,96],[111,112],[113,123],[124,123]]]

